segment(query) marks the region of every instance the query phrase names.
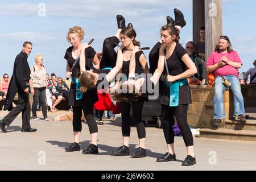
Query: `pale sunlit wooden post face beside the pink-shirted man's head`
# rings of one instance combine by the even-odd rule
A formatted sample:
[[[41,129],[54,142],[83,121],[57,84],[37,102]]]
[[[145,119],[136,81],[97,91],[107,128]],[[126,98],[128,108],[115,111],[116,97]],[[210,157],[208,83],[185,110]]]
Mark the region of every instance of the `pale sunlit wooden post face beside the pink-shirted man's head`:
[[[205,0],[205,61],[222,35],[221,0]]]

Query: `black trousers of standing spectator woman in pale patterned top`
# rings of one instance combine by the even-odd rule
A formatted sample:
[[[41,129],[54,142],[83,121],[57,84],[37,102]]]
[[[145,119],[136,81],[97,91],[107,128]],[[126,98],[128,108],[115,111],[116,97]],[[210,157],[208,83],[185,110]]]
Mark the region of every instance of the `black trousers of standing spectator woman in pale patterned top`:
[[[47,118],[46,87],[34,88],[34,90],[35,90],[35,94],[33,96],[32,115],[36,116],[36,106],[40,101],[40,105],[42,106],[43,116],[44,118]]]

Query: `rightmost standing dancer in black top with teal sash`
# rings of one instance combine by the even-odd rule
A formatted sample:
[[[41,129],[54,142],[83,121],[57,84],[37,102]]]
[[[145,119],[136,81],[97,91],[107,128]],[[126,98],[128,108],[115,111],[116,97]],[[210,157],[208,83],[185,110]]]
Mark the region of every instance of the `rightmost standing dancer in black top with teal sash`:
[[[187,83],[187,77],[197,72],[195,64],[187,55],[185,49],[179,44],[179,31],[172,24],[167,24],[161,29],[162,46],[159,50],[158,63],[163,65],[166,61],[166,82],[163,84],[160,104],[162,104],[163,131],[166,138],[168,152],[158,158],[157,162],[176,160],[174,152],[174,131],[172,130],[173,117],[180,127],[183,139],[187,147],[187,158],[183,166],[191,166],[196,163],[193,151],[193,137],[187,123],[188,104],[191,104],[191,91]],[[170,84],[171,83],[171,86]]]

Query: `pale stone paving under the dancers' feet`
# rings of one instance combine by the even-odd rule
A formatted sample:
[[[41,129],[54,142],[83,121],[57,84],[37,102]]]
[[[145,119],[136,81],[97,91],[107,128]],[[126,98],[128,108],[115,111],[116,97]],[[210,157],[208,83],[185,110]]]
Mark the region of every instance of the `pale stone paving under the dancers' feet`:
[[[175,137],[176,162],[157,163],[156,158],[167,151],[163,130],[156,126],[146,127],[147,157],[133,159],[130,156],[112,156],[112,151],[122,146],[121,117],[104,125],[98,125],[97,155],[65,152],[73,142],[72,122],[53,122],[57,115],[48,113],[50,121],[31,120],[36,133],[22,133],[19,115],[7,133],[0,132],[0,170],[92,170],[92,171],[173,171],[173,170],[256,170],[256,143],[230,140],[194,138],[196,165],[181,166],[186,156],[182,137]],[[0,118],[7,113],[0,111]],[[42,113],[38,112],[42,117]],[[90,142],[86,123],[82,123],[81,150]],[[130,151],[138,147],[135,127],[131,127]]]

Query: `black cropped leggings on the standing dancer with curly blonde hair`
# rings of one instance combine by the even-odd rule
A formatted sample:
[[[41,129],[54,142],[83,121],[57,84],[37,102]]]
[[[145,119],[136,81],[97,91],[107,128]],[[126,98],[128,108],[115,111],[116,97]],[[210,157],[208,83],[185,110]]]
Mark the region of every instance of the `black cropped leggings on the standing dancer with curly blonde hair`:
[[[93,105],[88,106],[73,106],[73,131],[81,131],[82,130],[82,110],[84,111],[84,117],[89,126],[90,134],[98,132],[97,123],[93,117]]]

